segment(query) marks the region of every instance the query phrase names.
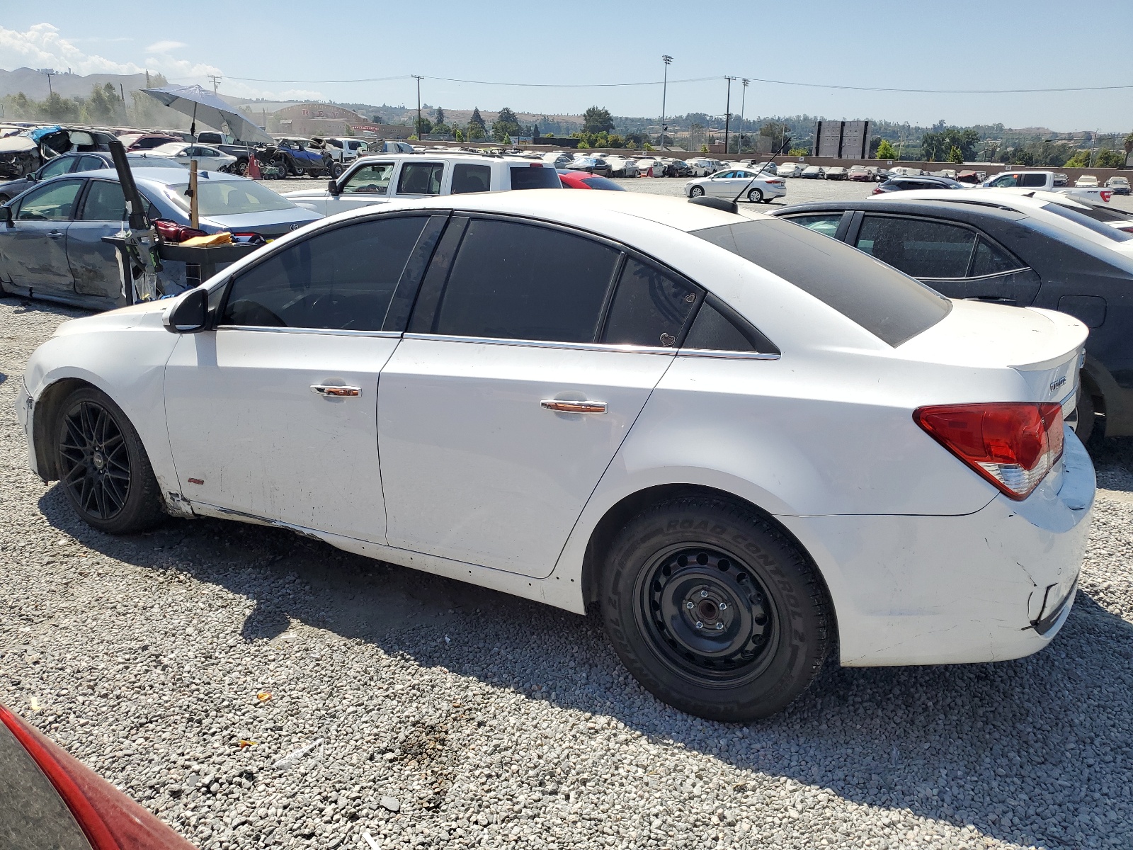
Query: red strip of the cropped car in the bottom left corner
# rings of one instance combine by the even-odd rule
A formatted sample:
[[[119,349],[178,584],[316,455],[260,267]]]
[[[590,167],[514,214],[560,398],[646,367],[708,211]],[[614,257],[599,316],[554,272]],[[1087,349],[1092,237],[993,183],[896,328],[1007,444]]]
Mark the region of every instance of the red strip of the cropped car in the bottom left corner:
[[[11,730],[54,785],[94,850],[195,850],[169,826],[3,706],[0,706],[0,723]]]

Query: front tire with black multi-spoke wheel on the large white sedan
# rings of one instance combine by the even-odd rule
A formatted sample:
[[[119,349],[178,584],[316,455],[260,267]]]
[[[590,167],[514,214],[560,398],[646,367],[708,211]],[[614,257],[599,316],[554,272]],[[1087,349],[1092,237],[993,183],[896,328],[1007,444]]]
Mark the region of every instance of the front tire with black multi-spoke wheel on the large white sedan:
[[[76,390],[54,423],[60,486],[92,528],[135,534],[162,519],[157,481],[126,414],[93,386]]]

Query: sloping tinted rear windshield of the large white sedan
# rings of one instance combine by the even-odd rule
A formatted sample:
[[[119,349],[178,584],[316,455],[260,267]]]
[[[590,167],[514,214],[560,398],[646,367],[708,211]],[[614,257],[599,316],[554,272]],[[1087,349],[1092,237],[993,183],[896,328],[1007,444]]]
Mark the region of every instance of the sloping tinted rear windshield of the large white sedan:
[[[952,301],[923,283],[789,221],[746,221],[692,235],[790,281],[894,347],[952,309]]]

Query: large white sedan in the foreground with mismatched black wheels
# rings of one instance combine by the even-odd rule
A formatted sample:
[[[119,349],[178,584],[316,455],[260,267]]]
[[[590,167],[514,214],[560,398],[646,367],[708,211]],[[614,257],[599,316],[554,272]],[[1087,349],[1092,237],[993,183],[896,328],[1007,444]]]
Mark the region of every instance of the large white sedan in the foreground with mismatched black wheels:
[[[324,219],[66,322],[16,410],[101,532],[220,517],[597,602],[642,686],[748,721],[830,653],[1050,643],[1094,492],[1063,424],[1085,335],[758,213],[485,193]]]

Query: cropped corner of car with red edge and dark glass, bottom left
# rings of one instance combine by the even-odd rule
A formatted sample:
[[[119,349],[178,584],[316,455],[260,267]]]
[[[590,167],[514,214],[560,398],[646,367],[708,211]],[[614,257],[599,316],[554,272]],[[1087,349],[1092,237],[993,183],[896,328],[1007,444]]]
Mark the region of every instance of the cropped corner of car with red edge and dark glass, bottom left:
[[[5,850],[196,850],[2,705],[0,844]]]

